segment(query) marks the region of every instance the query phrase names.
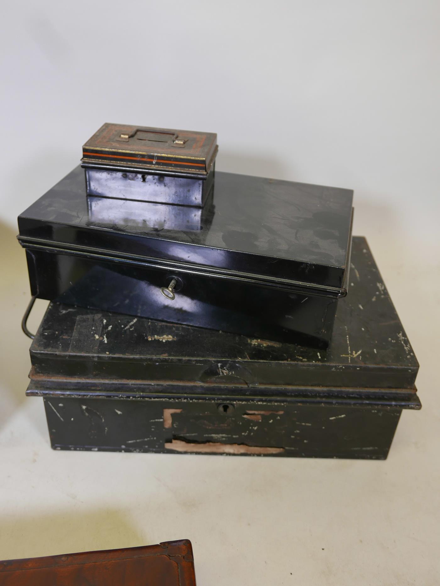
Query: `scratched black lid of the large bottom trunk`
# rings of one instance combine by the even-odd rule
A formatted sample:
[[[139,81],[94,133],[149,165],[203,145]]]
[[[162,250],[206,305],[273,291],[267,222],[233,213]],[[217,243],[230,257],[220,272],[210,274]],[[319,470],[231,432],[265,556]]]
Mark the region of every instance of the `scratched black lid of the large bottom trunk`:
[[[227,387],[251,396],[307,391],[316,400],[373,394],[417,408],[418,362],[363,237],[353,239],[351,263],[327,350],[52,303],[31,345],[28,394],[190,396]]]

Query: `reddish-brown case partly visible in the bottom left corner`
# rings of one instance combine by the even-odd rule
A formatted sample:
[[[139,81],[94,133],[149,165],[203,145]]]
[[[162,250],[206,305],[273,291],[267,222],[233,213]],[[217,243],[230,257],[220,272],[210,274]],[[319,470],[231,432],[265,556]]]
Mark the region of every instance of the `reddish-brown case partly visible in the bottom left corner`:
[[[195,586],[191,542],[0,561],[0,586]]]

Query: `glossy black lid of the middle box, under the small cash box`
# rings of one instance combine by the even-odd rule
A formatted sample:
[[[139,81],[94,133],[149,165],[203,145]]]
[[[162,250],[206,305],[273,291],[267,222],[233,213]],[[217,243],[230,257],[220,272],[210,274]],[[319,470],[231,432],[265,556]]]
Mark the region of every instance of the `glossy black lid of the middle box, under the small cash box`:
[[[130,217],[111,210],[92,216],[78,166],[19,216],[19,239],[29,248],[153,258],[168,268],[244,275],[340,297],[346,293],[352,199],[348,189],[216,172],[199,224],[176,229],[179,223],[167,223],[170,214],[151,216],[144,202],[136,202],[138,214],[131,210]],[[174,207],[178,212],[181,206]]]

